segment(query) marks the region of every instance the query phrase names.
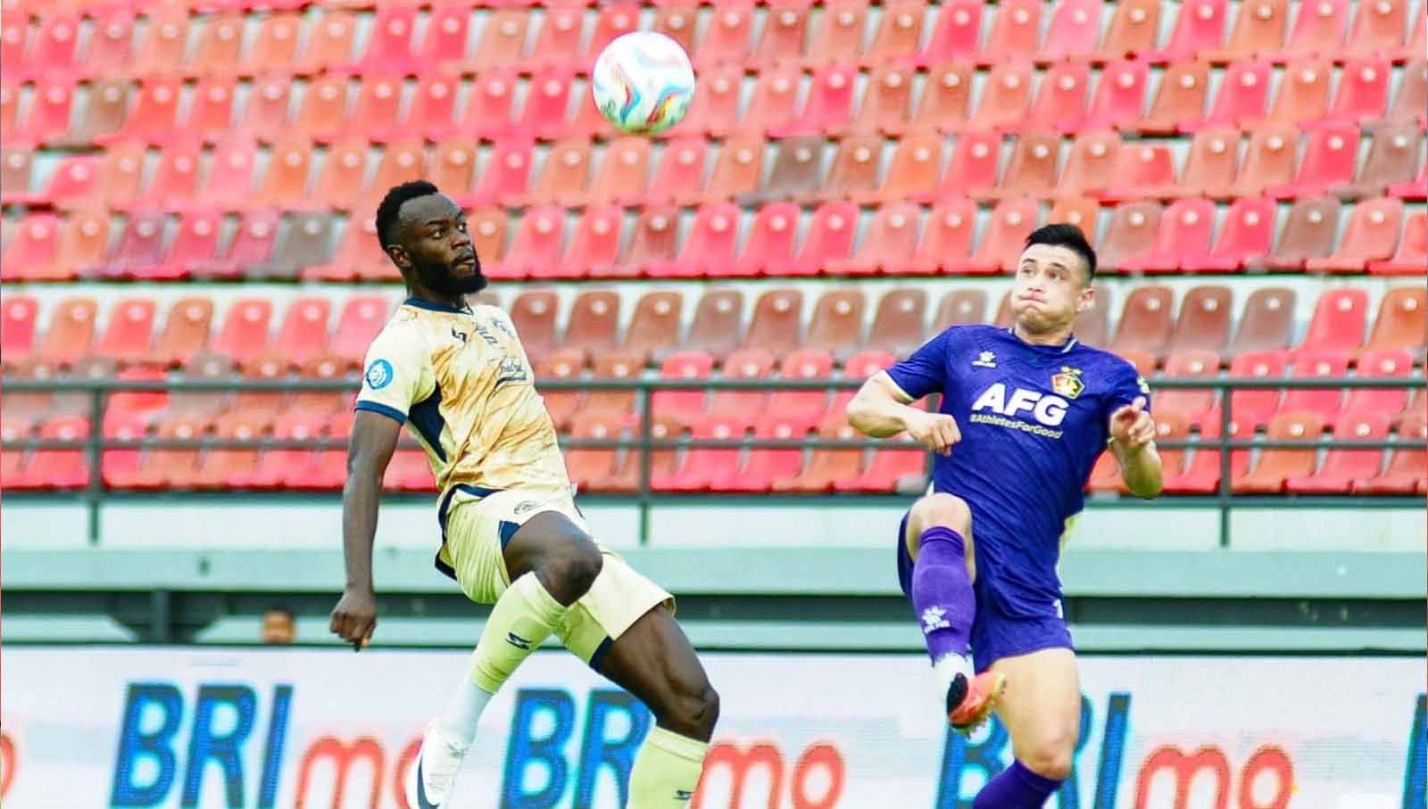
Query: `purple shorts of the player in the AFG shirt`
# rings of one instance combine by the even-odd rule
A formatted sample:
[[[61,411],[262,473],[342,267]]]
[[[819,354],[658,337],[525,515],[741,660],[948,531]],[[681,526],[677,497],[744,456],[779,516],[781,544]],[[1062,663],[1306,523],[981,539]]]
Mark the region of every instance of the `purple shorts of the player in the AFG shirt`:
[[[897,531],[897,578],[902,595],[912,598],[912,558],[907,554],[907,515]],[[975,552],[975,544],[972,545]],[[981,673],[1002,658],[1014,658],[1041,649],[1075,649],[1071,629],[1055,605],[1044,611],[1007,609],[1007,582],[998,582],[997,571],[977,559],[977,618],[972,621],[972,665]]]

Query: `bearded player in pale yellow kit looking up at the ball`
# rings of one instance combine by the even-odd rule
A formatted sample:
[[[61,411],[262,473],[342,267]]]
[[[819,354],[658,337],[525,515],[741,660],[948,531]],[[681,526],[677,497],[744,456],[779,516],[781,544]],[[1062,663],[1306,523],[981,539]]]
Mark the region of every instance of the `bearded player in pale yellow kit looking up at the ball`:
[[[683,808],[718,695],[674,622],[670,594],[591,536],[510,317],[466,301],[486,287],[466,227],[464,211],[430,183],[394,187],[377,210],[377,235],[408,297],[367,351],[343,491],[347,586],[331,629],[361,649],[376,628],[377,504],[406,427],[441,492],[436,565],[471,601],[494,605],[470,676],[427,726],[407,773],[408,803],[451,805],[490,696],[554,635],[654,715],[627,806]]]

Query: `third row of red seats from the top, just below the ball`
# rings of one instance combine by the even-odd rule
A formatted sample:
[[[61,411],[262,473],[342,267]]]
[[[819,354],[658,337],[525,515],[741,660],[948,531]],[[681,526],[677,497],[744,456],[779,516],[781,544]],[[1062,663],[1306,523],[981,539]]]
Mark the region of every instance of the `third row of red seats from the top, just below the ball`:
[[[640,137],[608,146],[563,140],[550,148],[528,141],[483,148],[450,138],[430,154],[413,140],[384,147],[363,140],[316,146],[307,138],[288,138],[271,147],[226,140],[213,150],[170,146],[159,154],[124,143],[103,154],[60,160],[43,185],[36,153],[10,147],[0,153],[0,204],[370,210],[387,188],[418,177],[433,180],[467,207],[717,200],[867,204],[964,195],[1087,195],[1105,203],[1198,195],[1291,200],[1324,193],[1341,198],[1385,193],[1422,198],[1428,184],[1428,168],[1422,168],[1428,164],[1421,160],[1424,133],[1414,123],[1388,124],[1371,137],[1361,137],[1354,126],[1311,133],[1277,126],[1245,134],[1235,128],[1197,133],[1180,168],[1172,141],[1122,141],[1114,131],[1085,133],[1070,141],[1051,131],[1015,137],[995,131],[908,134],[892,144],[881,136],[831,143],[823,136],[791,137],[777,146],[758,137],[735,137],[715,148],[701,138],[680,138],[663,150]],[[1368,144],[1362,158],[1361,143]],[[264,154],[267,166],[258,171]]]

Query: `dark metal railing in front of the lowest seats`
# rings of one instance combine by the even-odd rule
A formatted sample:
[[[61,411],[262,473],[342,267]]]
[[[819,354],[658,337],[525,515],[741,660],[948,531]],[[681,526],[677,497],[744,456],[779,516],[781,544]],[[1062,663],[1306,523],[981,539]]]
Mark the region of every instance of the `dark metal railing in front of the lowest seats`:
[[[119,439],[104,437],[101,428],[107,398],[113,392],[224,392],[224,391],[270,391],[270,392],[353,392],[360,384],[358,378],[346,380],[0,380],[0,390],[6,392],[50,392],[50,394],[89,394],[90,398],[90,431],[84,438],[77,439],[46,439],[23,438],[17,441],[0,442],[4,449],[84,449],[89,467],[89,482],[80,492],[89,508],[89,535],[91,542],[99,541],[99,509],[100,502],[111,489],[103,481],[103,452],[113,449],[346,449],[346,441],[330,438],[283,439],[283,438],[141,438]],[[640,509],[640,541],[645,542],[650,526],[650,508],[664,495],[653,487],[651,454],[658,449],[870,449],[888,448],[887,439],[828,439],[815,437],[797,437],[788,439],[750,438],[747,435],[714,439],[714,438],[655,438],[654,419],[651,415],[651,397],[658,391],[851,391],[863,384],[861,380],[665,380],[665,378],[558,378],[541,381],[537,387],[543,392],[557,391],[634,391],[635,411],[638,414],[638,435],[628,438],[563,438],[564,449],[631,449],[640,452],[638,485],[633,497]],[[1421,441],[1404,438],[1342,441],[1335,438],[1312,438],[1305,441],[1278,441],[1232,438],[1234,424],[1232,395],[1227,392],[1242,390],[1334,390],[1334,388],[1374,388],[1374,390],[1424,390],[1428,382],[1424,377],[1409,378],[1152,378],[1150,384],[1157,391],[1174,390],[1212,390],[1218,395],[1220,431],[1217,437],[1192,437],[1185,439],[1157,439],[1157,445],[1164,449],[1211,449],[1220,452],[1220,484],[1214,495],[1170,498],[1174,505],[1194,508],[1217,508],[1220,512],[1220,544],[1230,544],[1230,514],[1235,507],[1245,505],[1318,505],[1327,508],[1374,508],[1401,507],[1404,498],[1364,498],[1364,497],[1287,497],[1287,495],[1237,495],[1232,489],[1231,449],[1398,449],[1424,448]],[[905,445],[904,445],[905,447]],[[254,489],[260,494],[261,489]],[[304,492],[311,494],[311,492]],[[691,492],[681,492],[681,498],[691,497]],[[698,492],[693,492],[698,497]],[[731,497],[720,494],[717,497]],[[760,495],[767,499],[770,495]],[[788,498],[807,498],[820,495],[780,495]],[[860,495],[887,497],[887,495]],[[1110,501],[1117,502],[1117,501]],[[1121,502],[1142,504],[1140,499]]]

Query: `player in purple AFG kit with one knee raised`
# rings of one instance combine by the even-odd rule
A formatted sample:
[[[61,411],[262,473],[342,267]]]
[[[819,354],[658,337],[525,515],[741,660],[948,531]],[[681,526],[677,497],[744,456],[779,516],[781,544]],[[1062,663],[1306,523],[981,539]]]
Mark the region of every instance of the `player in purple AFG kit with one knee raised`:
[[[1015,325],[954,325],[848,404],[865,435],[905,431],[937,454],[930,494],[898,529],[897,571],[948,721],[970,733],[995,711],[1011,735],[1015,760],[975,809],[1040,808],[1071,772],[1081,689],[1057,561],[1092,465],[1110,448],[1132,494],[1161,491],[1145,380],[1072,335],[1094,278],[1080,228],[1034,231],[1015,268]],[[910,407],[930,394],[938,412]]]

